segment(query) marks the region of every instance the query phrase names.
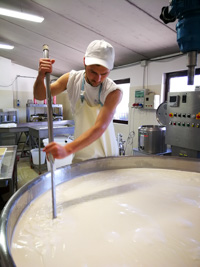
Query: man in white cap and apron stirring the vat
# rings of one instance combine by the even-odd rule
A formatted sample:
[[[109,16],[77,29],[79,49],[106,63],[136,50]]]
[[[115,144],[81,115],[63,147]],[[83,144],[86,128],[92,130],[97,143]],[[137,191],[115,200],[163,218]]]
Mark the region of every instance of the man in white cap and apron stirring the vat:
[[[83,64],[85,70],[71,71],[51,84],[55,96],[68,91],[75,121],[74,141],[61,146],[55,142],[44,148],[54,158],[61,159],[74,154],[74,162],[90,158],[117,156],[118,147],[112,119],[122,92],[108,78],[114,65],[114,48],[104,40],[91,42]],[[34,97],[46,98],[44,78],[52,72],[54,60],[40,59],[38,77],[34,84]]]

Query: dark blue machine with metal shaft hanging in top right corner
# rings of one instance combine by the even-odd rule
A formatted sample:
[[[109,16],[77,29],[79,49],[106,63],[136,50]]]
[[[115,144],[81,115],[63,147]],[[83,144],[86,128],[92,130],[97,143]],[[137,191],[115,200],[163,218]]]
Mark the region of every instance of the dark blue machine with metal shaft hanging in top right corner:
[[[192,85],[200,51],[200,0],[171,0],[162,8],[160,18],[165,24],[178,19],[177,42],[180,51],[188,54],[188,85]]]

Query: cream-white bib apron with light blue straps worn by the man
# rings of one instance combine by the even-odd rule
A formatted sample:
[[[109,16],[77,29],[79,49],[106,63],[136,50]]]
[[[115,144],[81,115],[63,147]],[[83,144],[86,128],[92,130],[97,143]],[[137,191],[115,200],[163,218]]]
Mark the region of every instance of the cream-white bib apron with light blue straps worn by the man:
[[[74,139],[79,137],[83,132],[87,131],[95,124],[96,118],[101,109],[102,103],[100,102],[100,93],[102,84],[99,89],[99,104],[97,106],[89,106],[84,100],[84,84],[85,78],[83,78],[81,97],[76,103],[74,121],[75,131]],[[94,141],[89,146],[79,150],[74,154],[73,163],[83,160],[99,157],[118,156],[119,149],[116,141],[113,122],[109,124],[103,135]]]

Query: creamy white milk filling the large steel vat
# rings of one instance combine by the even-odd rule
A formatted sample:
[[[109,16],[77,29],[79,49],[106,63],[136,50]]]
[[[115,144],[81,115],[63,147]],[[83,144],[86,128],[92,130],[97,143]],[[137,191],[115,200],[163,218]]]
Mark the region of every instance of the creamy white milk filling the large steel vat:
[[[19,267],[200,266],[200,174],[161,169],[91,173],[36,199],[18,222]]]

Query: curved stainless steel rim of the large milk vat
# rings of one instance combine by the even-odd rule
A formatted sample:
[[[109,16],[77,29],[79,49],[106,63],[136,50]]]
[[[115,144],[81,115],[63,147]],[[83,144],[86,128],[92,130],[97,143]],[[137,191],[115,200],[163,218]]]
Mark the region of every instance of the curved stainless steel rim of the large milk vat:
[[[200,172],[200,161],[166,156],[109,157],[68,165],[56,170],[56,184],[67,182],[81,175],[125,168],[159,168]],[[16,266],[10,253],[12,235],[18,219],[31,201],[50,189],[51,175],[45,173],[19,189],[5,206],[0,220],[0,265]]]

